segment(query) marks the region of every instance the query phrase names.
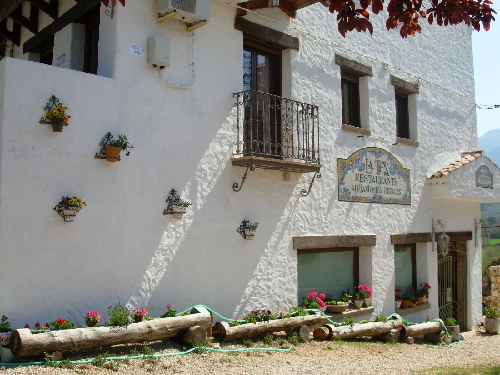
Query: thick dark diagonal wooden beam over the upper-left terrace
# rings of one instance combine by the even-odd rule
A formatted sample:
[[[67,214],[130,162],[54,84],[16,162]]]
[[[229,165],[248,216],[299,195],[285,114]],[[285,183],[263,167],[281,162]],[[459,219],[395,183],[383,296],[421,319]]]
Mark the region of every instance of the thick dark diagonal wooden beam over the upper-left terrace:
[[[40,30],[36,35],[26,40],[23,47],[23,52],[35,52],[36,46],[43,42],[46,38],[55,34],[57,31],[62,30],[69,23],[74,22],[79,16],[83,15],[94,6],[100,4],[101,0],[85,0],[78,2],[60,17],[55,19],[52,23],[50,23],[47,27]]]

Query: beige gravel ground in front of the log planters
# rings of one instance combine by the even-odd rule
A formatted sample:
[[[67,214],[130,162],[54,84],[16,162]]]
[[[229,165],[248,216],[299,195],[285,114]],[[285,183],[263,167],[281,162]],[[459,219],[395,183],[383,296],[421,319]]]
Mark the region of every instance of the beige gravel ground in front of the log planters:
[[[276,334],[275,341],[268,347],[278,348],[277,339],[284,337]],[[312,337],[312,335],[311,335]],[[145,344],[145,343],[144,343]],[[140,350],[144,344],[115,345],[107,348],[110,355],[127,355],[130,349]],[[162,341],[147,343],[155,353],[178,352],[182,345]],[[210,341],[210,346],[215,344]],[[262,342],[254,346],[266,347]],[[286,345],[286,344],[285,344]],[[221,343],[222,349],[241,348],[242,345]],[[67,356],[71,360],[92,358],[98,351],[85,351]],[[110,362],[106,362],[107,365]],[[116,363],[116,362],[113,362]],[[450,348],[435,348],[423,345],[387,344],[373,341],[316,341],[297,344],[293,351],[247,351],[239,355],[220,352],[189,353],[186,355],[158,358],[152,362],[143,359],[130,359],[118,362],[115,371],[93,364],[78,364],[74,368],[53,368],[46,366],[7,367],[0,373],[5,374],[112,374],[112,373],[171,373],[171,374],[412,374],[425,368],[444,366],[466,367],[478,364],[500,364],[500,335],[487,335],[483,332],[469,331],[465,340]]]

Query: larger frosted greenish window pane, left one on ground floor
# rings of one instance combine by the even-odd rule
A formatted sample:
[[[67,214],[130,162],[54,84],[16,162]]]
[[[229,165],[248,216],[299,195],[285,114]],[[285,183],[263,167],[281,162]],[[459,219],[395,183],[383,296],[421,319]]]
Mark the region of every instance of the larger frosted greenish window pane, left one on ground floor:
[[[310,291],[329,293],[336,299],[342,296],[343,290],[352,291],[354,250],[299,253],[297,256],[298,305],[302,295],[307,296]]]

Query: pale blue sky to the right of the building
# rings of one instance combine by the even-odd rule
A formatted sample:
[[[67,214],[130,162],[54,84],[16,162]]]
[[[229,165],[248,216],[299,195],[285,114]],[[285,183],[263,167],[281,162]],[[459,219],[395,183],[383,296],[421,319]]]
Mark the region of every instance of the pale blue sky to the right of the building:
[[[495,8],[494,5],[492,7]],[[475,102],[477,104],[500,104],[500,11],[496,19],[491,22],[491,27],[487,32],[482,27],[481,31],[472,32]],[[477,109],[476,112],[479,136],[486,131],[500,128],[500,107]]]

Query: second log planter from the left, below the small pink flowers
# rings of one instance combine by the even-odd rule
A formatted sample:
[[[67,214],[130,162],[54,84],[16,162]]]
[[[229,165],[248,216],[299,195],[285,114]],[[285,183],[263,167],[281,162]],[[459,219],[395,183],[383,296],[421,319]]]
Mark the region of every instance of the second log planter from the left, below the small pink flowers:
[[[212,327],[212,335],[218,341],[231,341],[237,338],[255,337],[265,333],[292,330],[300,325],[315,325],[321,322],[322,315],[313,311],[307,316],[295,316],[286,319],[258,321],[235,325],[233,327],[225,321],[217,321]]]

